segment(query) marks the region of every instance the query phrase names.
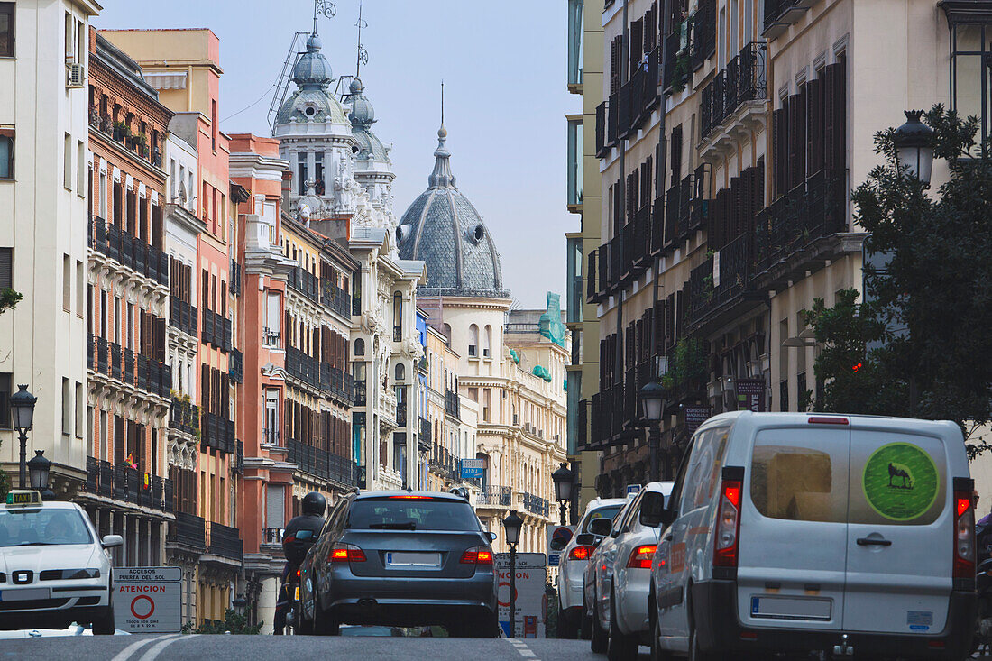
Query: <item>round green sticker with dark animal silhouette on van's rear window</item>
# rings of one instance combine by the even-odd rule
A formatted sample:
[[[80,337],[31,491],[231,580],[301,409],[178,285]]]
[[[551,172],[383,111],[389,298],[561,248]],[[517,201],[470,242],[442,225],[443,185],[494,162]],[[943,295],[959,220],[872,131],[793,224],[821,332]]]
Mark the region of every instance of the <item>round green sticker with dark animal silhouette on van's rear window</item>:
[[[909,443],[882,446],[865,463],[865,498],[887,519],[923,516],[936,499],[940,476],[930,455]]]

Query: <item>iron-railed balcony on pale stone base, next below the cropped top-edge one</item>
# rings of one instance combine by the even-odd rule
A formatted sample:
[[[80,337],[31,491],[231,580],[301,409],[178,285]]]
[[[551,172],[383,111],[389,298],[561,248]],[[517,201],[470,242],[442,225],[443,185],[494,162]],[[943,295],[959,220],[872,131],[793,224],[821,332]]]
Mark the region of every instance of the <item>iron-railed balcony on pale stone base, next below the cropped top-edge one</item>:
[[[768,45],[752,42],[702,88],[699,136],[708,141],[703,146],[704,158],[729,148],[735,131],[750,131],[764,123],[767,63]],[[724,127],[728,130],[717,132]]]

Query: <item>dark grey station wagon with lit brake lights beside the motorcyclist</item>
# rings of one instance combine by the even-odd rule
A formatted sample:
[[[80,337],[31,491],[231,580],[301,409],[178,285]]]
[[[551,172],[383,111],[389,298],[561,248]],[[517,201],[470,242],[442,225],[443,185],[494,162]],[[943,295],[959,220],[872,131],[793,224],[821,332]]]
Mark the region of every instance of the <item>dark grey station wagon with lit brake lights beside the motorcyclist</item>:
[[[453,636],[497,636],[493,537],[460,495],[348,494],[301,567],[301,633],[442,624]]]

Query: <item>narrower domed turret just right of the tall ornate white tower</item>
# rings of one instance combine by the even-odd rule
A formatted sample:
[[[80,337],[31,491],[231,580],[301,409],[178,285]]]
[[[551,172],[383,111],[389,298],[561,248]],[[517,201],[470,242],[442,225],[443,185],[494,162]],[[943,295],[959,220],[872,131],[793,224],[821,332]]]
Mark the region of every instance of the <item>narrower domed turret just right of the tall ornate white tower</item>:
[[[393,161],[389,157],[392,147],[382,144],[372,131],[376,122],[375,110],[365,96],[361,78],[351,80],[349,87],[351,135],[358,142],[354,156],[354,179],[368,192],[372,204],[392,217],[393,213]]]

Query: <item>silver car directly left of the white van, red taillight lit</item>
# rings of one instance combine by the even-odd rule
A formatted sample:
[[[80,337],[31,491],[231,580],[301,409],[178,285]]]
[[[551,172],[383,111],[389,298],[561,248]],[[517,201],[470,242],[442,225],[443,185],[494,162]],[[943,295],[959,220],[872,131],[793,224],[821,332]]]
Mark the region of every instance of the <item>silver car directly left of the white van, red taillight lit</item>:
[[[650,482],[609,525],[599,520],[590,526],[593,533],[605,535],[597,562],[590,563],[591,646],[605,651],[610,661],[636,658],[638,647],[651,642],[651,562],[672,487],[673,482]]]

